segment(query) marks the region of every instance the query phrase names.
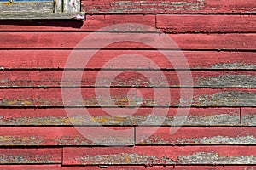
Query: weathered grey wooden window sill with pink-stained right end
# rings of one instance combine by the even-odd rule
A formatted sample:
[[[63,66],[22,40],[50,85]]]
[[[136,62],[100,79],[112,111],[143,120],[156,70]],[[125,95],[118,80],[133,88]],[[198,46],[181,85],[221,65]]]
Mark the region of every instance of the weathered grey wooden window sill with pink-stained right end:
[[[0,20],[41,20],[41,19],[65,19],[85,20],[85,13],[37,13],[37,12],[2,12]]]

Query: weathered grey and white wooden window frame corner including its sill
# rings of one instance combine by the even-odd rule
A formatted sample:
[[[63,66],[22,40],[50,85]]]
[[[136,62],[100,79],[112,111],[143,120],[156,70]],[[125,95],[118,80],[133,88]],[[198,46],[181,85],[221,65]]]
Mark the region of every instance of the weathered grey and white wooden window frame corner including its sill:
[[[13,1],[13,0],[11,0]],[[0,20],[84,20],[80,0],[0,2]]]

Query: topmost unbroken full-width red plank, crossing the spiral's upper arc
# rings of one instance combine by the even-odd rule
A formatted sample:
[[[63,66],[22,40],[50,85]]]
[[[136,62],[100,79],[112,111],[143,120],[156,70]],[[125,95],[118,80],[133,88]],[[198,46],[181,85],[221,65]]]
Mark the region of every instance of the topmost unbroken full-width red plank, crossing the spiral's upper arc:
[[[0,33],[0,48],[75,48],[77,44],[89,35],[88,32],[2,32]],[[165,48],[166,44],[161,44],[153,40],[152,34],[147,36],[143,33],[106,33],[97,32],[88,42],[81,42],[81,48],[102,48],[98,42],[109,42],[109,37],[113,41],[118,41],[104,48],[152,48],[139,41],[137,37],[149,38],[148,43],[155,44],[155,48]],[[155,34],[156,37],[160,34]],[[177,46],[181,49],[255,49],[253,42],[256,41],[256,34],[171,34]],[[13,41],[15,39],[15,41]],[[88,40],[89,41],[89,40]],[[155,42],[154,42],[155,41]],[[169,47],[169,45],[168,45]],[[169,49],[176,49],[170,46]]]

